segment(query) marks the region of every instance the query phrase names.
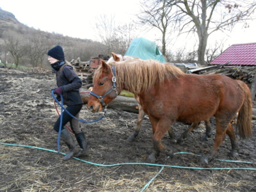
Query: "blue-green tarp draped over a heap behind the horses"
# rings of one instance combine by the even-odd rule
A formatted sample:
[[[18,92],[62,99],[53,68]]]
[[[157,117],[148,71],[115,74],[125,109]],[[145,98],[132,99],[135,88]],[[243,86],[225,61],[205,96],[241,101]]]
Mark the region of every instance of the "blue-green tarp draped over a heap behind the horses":
[[[157,60],[166,63],[163,54],[159,51],[156,42],[147,40],[146,38],[134,38],[129,45],[125,56],[134,56],[141,60]]]

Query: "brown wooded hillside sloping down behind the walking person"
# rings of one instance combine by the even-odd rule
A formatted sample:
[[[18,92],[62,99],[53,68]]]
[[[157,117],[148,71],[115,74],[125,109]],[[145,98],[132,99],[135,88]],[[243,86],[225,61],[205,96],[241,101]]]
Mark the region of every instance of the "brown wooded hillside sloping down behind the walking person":
[[[47,68],[49,63],[45,55],[54,45],[63,47],[68,61],[77,58],[88,61],[92,57],[108,52],[106,45],[101,42],[29,28],[19,22],[13,13],[0,8],[0,58],[4,61],[18,62],[17,66]],[[12,54],[6,54],[7,52]]]

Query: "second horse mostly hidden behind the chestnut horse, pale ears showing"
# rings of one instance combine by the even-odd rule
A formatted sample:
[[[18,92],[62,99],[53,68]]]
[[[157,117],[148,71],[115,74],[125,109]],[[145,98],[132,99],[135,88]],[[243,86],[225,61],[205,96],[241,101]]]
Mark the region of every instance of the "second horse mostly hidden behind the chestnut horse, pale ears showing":
[[[134,56],[122,56],[121,54],[115,54],[115,52],[111,52],[111,58],[109,58],[109,60],[107,61],[107,63],[111,63],[111,62],[118,62],[118,61],[128,61],[128,60],[140,60],[140,58],[138,57],[134,57]],[[146,113],[143,111],[141,104],[140,104],[140,97],[138,97],[138,95],[134,95],[134,99],[136,100],[136,102],[138,103],[138,111],[139,111],[139,115],[138,115],[138,119],[137,119],[137,123],[136,123],[136,127],[134,129],[134,131],[132,132],[132,134],[128,137],[128,141],[134,141],[136,139],[136,137],[138,136],[139,132],[140,132],[140,128],[141,128],[141,123],[142,120],[144,118],[144,116],[146,115]],[[202,140],[207,140],[207,138],[211,137],[211,124],[209,120],[205,120],[205,135],[203,136]],[[177,138],[176,140],[176,136],[175,133],[172,131],[172,129],[168,129],[168,134],[170,136],[171,139],[171,143],[182,143],[182,141],[184,141],[184,139],[188,136],[189,132],[193,131],[193,129],[195,129],[195,127],[200,124],[200,122],[193,122],[193,124],[191,124],[191,126],[184,132],[182,132],[182,134],[180,134],[180,136]]]

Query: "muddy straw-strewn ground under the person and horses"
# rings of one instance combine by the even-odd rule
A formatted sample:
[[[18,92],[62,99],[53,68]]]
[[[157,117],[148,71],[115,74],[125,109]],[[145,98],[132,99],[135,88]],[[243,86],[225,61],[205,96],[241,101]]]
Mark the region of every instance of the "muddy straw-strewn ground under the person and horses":
[[[143,164],[152,150],[147,116],[138,139],[129,142],[138,114],[108,109],[102,120],[81,123],[88,156],[63,161],[63,154],[56,152],[57,134],[52,129],[58,118],[51,96],[56,87],[54,74],[0,68],[0,81],[0,191],[256,191],[255,122],[252,138],[238,138],[239,157],[229,156],[226,138],[206,166],[191,154],[172,158],[161,154],[156,164]],[[83,120],[101,116],[84,105]],[[204,129],[197,128],[181,144],[170,143],[167,133],[163,143],[174,152],[203,155],[212,147],[214,120],[211,126],[208,141],[201,141]],[[188,127],[177,122],[173,130],[179,135]],[[67,152],[65,144],[60,144],[61,152]]]

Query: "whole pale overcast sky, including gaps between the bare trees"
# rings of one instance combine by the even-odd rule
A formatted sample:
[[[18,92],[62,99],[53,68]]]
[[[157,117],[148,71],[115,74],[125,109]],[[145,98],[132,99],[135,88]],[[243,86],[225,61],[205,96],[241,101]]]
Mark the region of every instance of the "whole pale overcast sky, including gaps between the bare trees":
[[[122,3],[121,3],[122,2]],[[13,13],[16,19],[26,26],[42,31],[60,33],[76,38],[88,38],[97,40],[95,22],[100,15],[115,16],[118,23],[129,23],[136,19],[135,14],[140,11],[139,0],[7,0],[1,1],[2,10]],[[224,35],[216,33],[209,37],[209,42],[215,42],[220,38],[228,38],[226,48],[232,44],[244,44],[256,42],[256,20],[250,24],[250,28],[242,29],[237,26],[232,33]],[[141,36],[155,41],[160,33],[146,33],[141,31]],[[191,45],[191,36],[185,40],[172,38],[172,47]]]

